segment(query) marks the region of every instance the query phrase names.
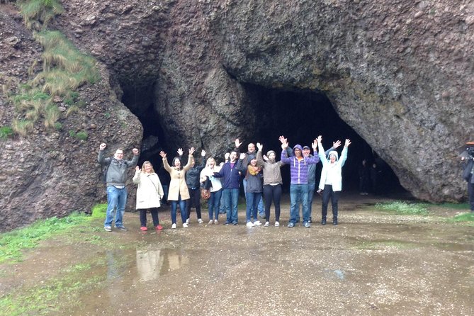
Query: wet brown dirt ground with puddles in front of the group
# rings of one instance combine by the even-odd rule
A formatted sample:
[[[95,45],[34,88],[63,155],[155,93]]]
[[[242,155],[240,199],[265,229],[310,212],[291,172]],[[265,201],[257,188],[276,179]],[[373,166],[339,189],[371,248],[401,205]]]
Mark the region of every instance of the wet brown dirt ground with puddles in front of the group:
[[[94,222],[2,265],[0,294],[63,287],[31,315],[474,315],[474,227],[446,222],[459,210],[394,215],[376,201],[343,197],[336,227],[247,228],[240,210],[237,227],[193,213],[188,229],[142,233],[127,213],[128,232]]]

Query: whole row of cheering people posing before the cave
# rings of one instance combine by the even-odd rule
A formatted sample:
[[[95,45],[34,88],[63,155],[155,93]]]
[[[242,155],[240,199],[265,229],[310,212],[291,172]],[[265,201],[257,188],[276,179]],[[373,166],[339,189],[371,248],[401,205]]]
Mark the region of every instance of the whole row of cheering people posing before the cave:
[[[281,215],[281,193],[283,181],[281,179],[281,167],[290,166],[290,220],[288,227],[295,227],[300,222],[300,205],[302,207],[303,226],[311,227],[312,222],[312,198],[316,189],[315,168],[318,162],[322,162],[322,173],[317,193],[322,196],[322,219],[321,224],[326,225],[327,208],[329,201],[332,203],[332,223],[337,225],[339,193],[342,191],[342,167],[346,162],[347,148],[351,145],[350,140],[344,143],[341,156],[337,152],[340,141],[326,152],[322,146],[322,137],[318,136],[308,146],[295,145],[290,148],[288,140],[284,136],[278,138],[281,142],[280,161],[276,161],[276,152],[269,150],[263,154],[264,146],[260,143],[250,143],[247,152],[239,152],[242,143],[235,140],[235,149],[225,154],[225,161],[217,164],[213,157],[205,160],[206,152],[201,151],[201,163],[196,164],[193,157],[195,149],[191,147],[188,159],[183,165],[183,150],[178,149],[178,156],[171,160],[169,165],[166,152],[160,152],[163,167],[169,173],[170,181],[167,192],[164,191],[159,176],[154,171],[152,163],[145,161],[142,168],[135,167],[133,182],[137,184],[136,208],[140,211],[140,229],[147,230],[147,213],[151,213],[153,226],[156,230],[162,230],[159,224],[158,208],[163,203],[165,194],[167,201],[171,204],[171,229],[176,228],[177,208],[181,210],[181,222],[184,228],[188,227],[191,207],[196,208],[198,222],[201,218],[201,186],[209,191],[208,214],[209,225],[218,225],[220,205],[223,204],[227,218],[225,225],[238,225],[237,205],[239,198],[240,182],[243,178],[246,199],[246,225],[254,227],[262,225],[259,220],[265,218],[264,226],[270,225],[271,205],[275,209],[274,225],[280,226]],[[319,150],[317,150],[319,147]],[[107,168],[106,186],[108,206],[104,229],[112,230],[115,218],[115,227],[119,230],[127,230],[123,225],[123,214],[127,198],[125,187],[126,171],[128,167],[136,166],[138,162],[138,149],[133,149],[131,160],[123,159],[123,150],[117,149],[113,157],[105,157],[106,144],[99,146],[98,162]],[[257,150],[256,150],[257,149]],[[264,211],[264,213],[263,213]],[[260,213],[260,214],[259,214]]]

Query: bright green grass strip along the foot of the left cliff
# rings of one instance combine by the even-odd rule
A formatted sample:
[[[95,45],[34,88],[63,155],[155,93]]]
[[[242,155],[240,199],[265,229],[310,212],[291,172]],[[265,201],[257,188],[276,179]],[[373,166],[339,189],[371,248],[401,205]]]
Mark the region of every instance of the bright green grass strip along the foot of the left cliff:
[[[23,249],[37,247],[39,242],[58,235],[71,227],[91,220],[90,216],[72,213],[65,218],[48,218],[39,220],[28,227],[6,232],[0,235],[0,263],[20,261]]]

